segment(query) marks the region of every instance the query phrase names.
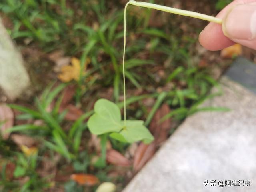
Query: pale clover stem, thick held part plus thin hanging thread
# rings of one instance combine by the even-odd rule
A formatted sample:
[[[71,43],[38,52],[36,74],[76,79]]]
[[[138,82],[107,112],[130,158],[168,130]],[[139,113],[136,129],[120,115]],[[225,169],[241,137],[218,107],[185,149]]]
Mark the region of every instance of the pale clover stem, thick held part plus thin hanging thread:
[[[146,7],[146,8],[152,8],[168,13],[173,13],[173,14],[178,14],[178,15],[183,15],[183,16],[189,16],[193,18],[198,18],[218,24],[222,24],[222,19],[216,18],[213,16],[193,12],[193,11],[187,11],[187,10],[181,10],[181,9],[176,9],[172,7],[166,7],[162,5],[157,5],[153,3],[146,3],[146,2],[138,2],[134,0],[130,0],[128,3],[126,3],[125,8],[124,8],[124,52],[123,52],[123,81],[124,81],[124,124],[126,124],[126,91],[125,91],[125,67],[124,67],[124,60],[125,60],[125,48],[126,48],[126,10],[127,6],[131,4],[134,6],[140,6],[140,7]]]

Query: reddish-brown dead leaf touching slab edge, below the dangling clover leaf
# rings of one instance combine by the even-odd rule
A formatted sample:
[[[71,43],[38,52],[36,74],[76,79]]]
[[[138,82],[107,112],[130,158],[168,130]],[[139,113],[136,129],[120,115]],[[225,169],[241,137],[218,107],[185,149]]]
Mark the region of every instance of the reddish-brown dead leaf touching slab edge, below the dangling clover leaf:
[[[149,145],[146,145],[143,142],[140,143],[134,155],[134,162],[133,162],[134,171],[138,172],[146,164],[146,162],[148,162],[148,160],[152,158],[155,152],[156,152],[155,142],[152,142]]]

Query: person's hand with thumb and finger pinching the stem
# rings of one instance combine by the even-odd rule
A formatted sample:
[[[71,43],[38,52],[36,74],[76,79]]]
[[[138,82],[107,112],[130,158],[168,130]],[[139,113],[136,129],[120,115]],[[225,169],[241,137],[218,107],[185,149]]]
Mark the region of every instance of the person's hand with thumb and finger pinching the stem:
[[[256,50],[256,0],[234,0],[217,16],[222,26],[209,23],[199,35],[208,50],[220,50],[235,43]]]

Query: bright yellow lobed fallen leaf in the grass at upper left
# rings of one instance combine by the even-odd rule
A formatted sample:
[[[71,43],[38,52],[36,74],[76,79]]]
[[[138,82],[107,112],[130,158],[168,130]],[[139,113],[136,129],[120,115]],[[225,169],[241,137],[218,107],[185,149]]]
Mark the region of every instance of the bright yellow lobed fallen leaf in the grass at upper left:
[[[85,62],[85,70],[87,65],[90,63],[90,60],[87,59]],[[58,78],[62,82],[70,82],[71,80],[78,81],[80,77],[80,60],[76,57],[71,58],[71,65],[63,66],[61,68],[61,73],[58,75]]]

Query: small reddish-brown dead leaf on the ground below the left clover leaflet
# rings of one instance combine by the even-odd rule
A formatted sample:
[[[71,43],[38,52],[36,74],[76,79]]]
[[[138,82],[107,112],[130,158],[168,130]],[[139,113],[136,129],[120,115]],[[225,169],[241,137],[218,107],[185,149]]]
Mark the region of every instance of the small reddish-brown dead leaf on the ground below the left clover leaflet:
[[[108,163],[117,165],[117,166],[123,166],[123,167],[131,166],[130,160],[128,160],[120,152],[114,149],[110,149],[107,151],[106,160]]]

